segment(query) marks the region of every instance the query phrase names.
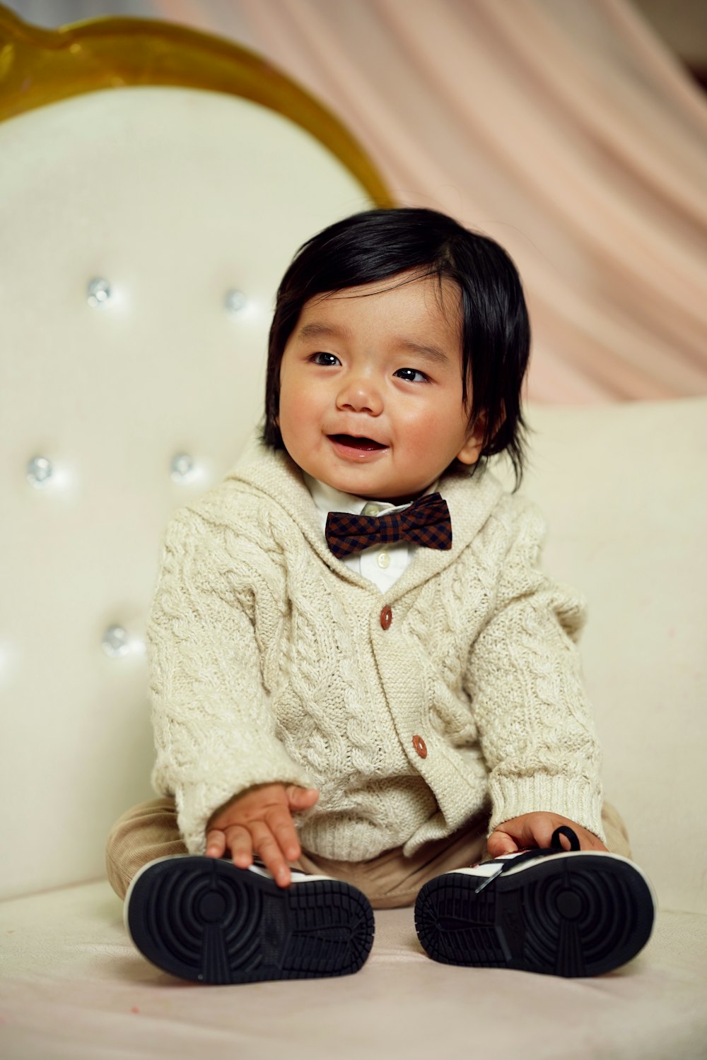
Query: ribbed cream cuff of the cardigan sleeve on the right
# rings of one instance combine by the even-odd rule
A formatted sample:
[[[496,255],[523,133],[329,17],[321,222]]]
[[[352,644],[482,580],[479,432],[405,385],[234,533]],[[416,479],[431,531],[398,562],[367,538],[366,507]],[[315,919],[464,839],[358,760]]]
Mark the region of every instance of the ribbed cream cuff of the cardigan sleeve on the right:
[[[584,777],[549,776],[490,778],[493,810],[489,834],[498,825],[525,813],[559,813],[606,842],[601,820],[601,784]]]

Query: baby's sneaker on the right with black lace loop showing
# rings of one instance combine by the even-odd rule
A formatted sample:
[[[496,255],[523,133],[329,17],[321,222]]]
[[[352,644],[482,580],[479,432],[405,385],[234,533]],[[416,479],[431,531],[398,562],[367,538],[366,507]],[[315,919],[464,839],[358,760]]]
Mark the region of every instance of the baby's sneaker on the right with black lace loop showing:
[[[562,848],[560,835],[571,850]],[[506,854],[429,880],[418,895],[414,923],[425,951],[445,965],[601,975],[643,949],[656,904],[633,862],[581,851],[572,829],[563,825],[549,849]]]

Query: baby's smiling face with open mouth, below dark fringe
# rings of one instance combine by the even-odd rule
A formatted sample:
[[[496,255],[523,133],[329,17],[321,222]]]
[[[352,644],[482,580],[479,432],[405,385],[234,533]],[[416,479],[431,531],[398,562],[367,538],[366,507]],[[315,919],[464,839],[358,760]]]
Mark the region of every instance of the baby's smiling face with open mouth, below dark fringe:
[[[359,497],[418,496],[474,463],[461,401],[459,292],[401,273],[306,302],[280,370],[278,424],[299,466]],[[388,288],[388,289],[386,289]]]

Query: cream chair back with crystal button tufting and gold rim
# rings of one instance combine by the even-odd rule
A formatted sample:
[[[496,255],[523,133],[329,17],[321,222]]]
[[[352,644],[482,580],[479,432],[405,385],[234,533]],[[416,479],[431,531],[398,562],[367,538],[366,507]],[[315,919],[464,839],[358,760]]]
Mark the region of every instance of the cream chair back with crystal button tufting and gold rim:
[[[225,41],[2,11],[0,35],[4,897],[101,876],[111,823],[153,795],[163,527],[262,416],[294,252],[385,192],[331,114]]]

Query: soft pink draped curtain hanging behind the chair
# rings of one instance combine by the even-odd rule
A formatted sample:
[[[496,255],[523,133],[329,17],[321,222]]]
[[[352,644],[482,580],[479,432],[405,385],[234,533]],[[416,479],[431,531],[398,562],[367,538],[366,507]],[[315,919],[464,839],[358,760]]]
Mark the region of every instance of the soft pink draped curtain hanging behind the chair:
[[[401,205],[498,240],[528,396],[707,392],[707,96],[628,0],[154,0],[334,110]]]

